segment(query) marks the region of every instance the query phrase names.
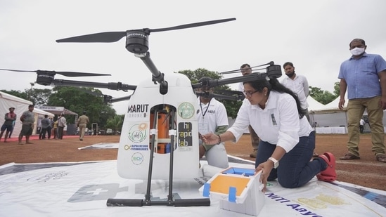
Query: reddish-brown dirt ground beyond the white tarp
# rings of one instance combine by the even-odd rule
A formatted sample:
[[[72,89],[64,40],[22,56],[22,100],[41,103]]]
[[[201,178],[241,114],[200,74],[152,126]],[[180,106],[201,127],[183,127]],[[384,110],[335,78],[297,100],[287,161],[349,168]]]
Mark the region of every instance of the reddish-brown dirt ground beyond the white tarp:
[[[24,140],[24,138],[23,138]],[[41,162],[84,162],[117,159],[117,149],[86,149],[79,147],[97,143],[118,143],[120,136],[85,136],[79,141],[77,136],[66,136],[63,140],[31,140],[32,145],[18,145],[11,141],[0,141],[0,165],[8,163],[41,163]],[[361,159],[342,161],[339,157],[347,152],[347,135],[317,134],[316,152],[332,152],[337,158],[337,180],[361,185],[368,188],[386,190],[386,164],[377,162],[371,152],[371,133],[361,135]],[[255,161],[251,158],[250,136],[245,134],[237,144],[227,142],[226,151],[236,157]]]

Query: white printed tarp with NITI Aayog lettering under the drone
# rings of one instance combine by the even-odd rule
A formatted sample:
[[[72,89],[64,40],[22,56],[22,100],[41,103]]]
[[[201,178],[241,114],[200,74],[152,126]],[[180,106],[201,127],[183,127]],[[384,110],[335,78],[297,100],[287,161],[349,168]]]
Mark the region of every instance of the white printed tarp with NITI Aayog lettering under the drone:
[[[231,166],[253,168],[243,160]],[[202,174],[174,180],[174,198],[202,198],[198,189],[209,179]],[[120,178],[116,161],[6,164],[0,166],[0,216],[247,216],[220,209],[216,199],[210,206],[106,206],[109,198],[144,199],[146,183]],[[167,183],[152,181],[152,201],[167,198]],[[274,181],[259,216],[385,216],[385,198],[385,191],[337,181],[314,178],[297,189],[281,188]]]

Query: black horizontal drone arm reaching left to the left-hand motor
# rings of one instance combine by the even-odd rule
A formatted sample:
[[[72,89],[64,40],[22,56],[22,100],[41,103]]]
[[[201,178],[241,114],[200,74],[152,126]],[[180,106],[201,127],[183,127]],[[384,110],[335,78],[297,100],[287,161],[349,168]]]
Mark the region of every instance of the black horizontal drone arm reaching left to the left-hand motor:
[[[39,84],[39,82],[38,82]],[[98,83],[98,82],[88,82],[88,81],[70,81],[70,80],[63,80],[63,79],[53,79],[52,84],[55,86],[87,86],[87,87],[94,87],[94,88],[108,88],[110,90],[135,90],[136,86],[134,85],[128,85],[128,84],[122,84],[121,82],[109,82],[109,83]],[[46,85],[46,84],[43,84]]]

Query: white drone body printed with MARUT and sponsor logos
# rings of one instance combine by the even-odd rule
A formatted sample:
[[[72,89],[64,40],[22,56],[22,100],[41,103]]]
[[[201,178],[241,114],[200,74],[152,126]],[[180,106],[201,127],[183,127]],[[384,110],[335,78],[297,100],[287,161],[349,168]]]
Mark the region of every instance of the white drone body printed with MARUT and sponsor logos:
[[[170,152],[164,150],[168,146],[174,153],[173,178],[198,176],[197,96],[184,74],[165,74],[165,80],[167,93],[160,93],[160,85],[148,79],[128,102],[117,156],[122,178],[148,179],[152,148],[152,179],[169,178]]]

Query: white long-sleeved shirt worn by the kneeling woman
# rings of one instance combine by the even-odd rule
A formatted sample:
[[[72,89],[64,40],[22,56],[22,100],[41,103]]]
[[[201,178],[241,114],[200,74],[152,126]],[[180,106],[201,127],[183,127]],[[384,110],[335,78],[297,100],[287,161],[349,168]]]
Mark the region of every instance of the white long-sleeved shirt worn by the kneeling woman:
[[[261,140],[283,147],[286,152],[299,143],[299,137],[309,136],[314,131],[306,117],[299,119],[295,99],[288,93],[276,91],[269,94],[264,110],[259,105],[251,105],[246,98],[243,100],[235,123],[228,129],[236,138],[234,142],[249,125]]]

